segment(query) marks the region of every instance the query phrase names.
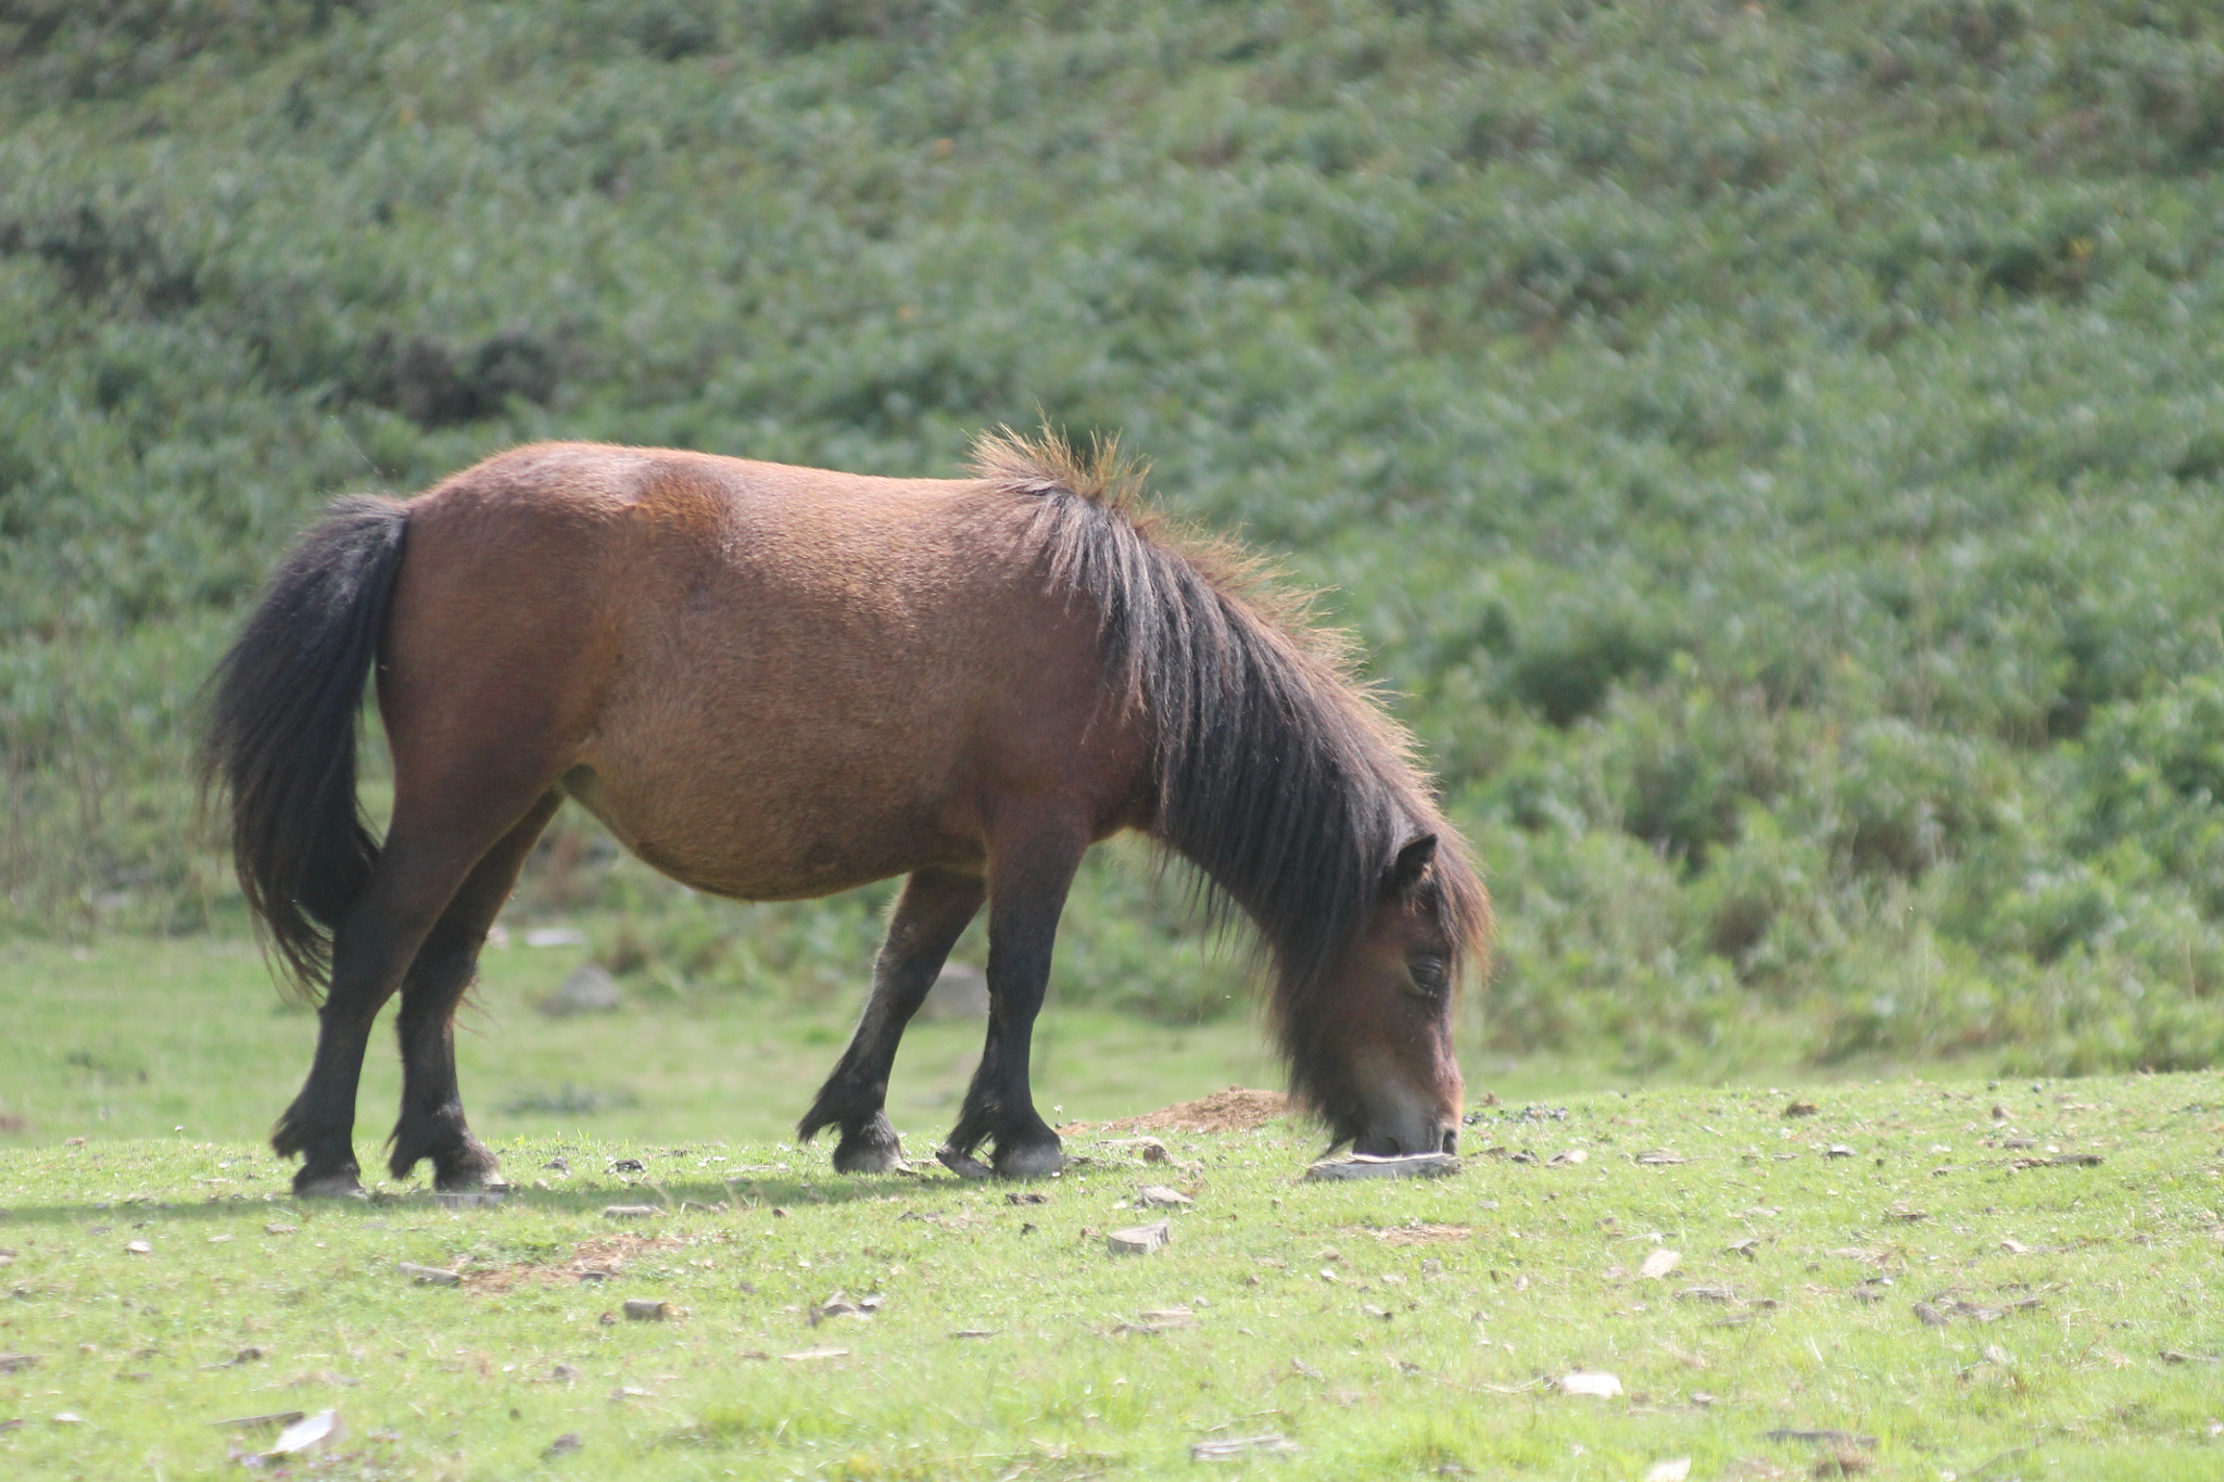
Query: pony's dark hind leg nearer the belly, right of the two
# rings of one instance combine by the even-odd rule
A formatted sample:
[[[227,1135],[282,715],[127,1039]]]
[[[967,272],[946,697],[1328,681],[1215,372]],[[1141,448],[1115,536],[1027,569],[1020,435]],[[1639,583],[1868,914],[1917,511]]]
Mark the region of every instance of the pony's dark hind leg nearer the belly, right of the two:
[[[478,971],[478,949],[509,900],[518,869],[560,802],[543,795],[518,824],[471,867],[447,911],[425,935],[416,962],[403,980],[403,1007],[394,1029],[403,1049],[403,1111],[394,1124],[394,1155],[387,1169],[409,1178],[420,1160],[431,1160],[434,1189],[480,1189],[500,1182],[494,1153],[471,1135],[456,1089],[456,1004]]]

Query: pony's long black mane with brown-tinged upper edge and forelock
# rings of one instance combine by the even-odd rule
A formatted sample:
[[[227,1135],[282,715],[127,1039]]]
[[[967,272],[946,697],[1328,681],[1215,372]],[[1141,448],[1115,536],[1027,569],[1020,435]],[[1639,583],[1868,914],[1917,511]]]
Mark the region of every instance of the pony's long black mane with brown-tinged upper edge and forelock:
[[[1201,871],[1214,920],[1234,907],[1259,929],[1283,1058],[1314,1091],[1305,1024],[1406,842],[1439,838],[1421,898],[1454,973],[1486,951],[1488,895],[1410,738],[1352,680],[1339,635],[1228,549],[1163,535],[1110,447],[1083,462],[1056,440],[996,435],[976,469],[1034,502],[1052,584],[1099,613],[1108,682],[1156,742],[1154,835]]]

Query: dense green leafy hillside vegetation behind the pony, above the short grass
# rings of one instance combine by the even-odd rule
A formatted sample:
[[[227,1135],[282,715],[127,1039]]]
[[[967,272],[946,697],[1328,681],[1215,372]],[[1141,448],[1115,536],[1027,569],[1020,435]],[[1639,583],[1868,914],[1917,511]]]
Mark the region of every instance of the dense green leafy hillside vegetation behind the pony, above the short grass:
[[[1121,431],[1363,638],[1490,1042],[2224,1058],[2200,0],[9,0],[0,889],[240,929],[193,693],[322,498],[505,444]],[[560,824],[667,991],[854,980]],[[1061,993],[1228,1002],[1103,867]]]

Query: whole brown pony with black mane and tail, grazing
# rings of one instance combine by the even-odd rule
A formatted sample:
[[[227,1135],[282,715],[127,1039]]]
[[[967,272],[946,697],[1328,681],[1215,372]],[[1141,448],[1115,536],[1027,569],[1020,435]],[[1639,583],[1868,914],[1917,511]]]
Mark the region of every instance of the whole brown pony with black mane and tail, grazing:
[[[285,969],[327,989],[271,1146],[358,1193],[356,1080],[403,995],[389,1169],[498,1180],[456,1093],[454,1013],[563,798],[701,891],[798,900],[910,875],[856,1038],[801,1133],[901,1149],[896,1042],[990,909],[990,1022],[950,1144],[1061,1164],[1027,1042],[1083,851],[1141,829],[1259,929],[1301,1102],[1368,1153],[1450,1149],[1452,991],[1490,907],[1406,735],[1339,653],[1185,549],[1108,453],[985,438],[976,478],[523,447],[405,502],[342,500],[216,673],[207,780]],[[385,842],[356,807],[376,664]]]

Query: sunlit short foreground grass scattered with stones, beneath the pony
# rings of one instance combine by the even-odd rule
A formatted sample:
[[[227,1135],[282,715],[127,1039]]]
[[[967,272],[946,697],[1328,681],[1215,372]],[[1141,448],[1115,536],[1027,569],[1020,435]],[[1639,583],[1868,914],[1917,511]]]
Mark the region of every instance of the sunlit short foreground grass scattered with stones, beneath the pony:
[[[322,1409],[287,1475],[1168,1475],[1252,1435],[1292,1480],[2224,1469],[2224,1078],[1795,1095],[1483,1109],[1439,1182],[1297,1182],[1285,1124],[1174,1169],[1074,1138],[1039,1204],[743,1140],[509,1138],[467,1211],[296,1206],[234,1142],[9,1149],[0,1473],[216,1475],[271,1442],[214,1422]],[[1197,1204],[1110,1258],[1143,1182]],[[883,1302],[814,1324],[836,1293]]]

